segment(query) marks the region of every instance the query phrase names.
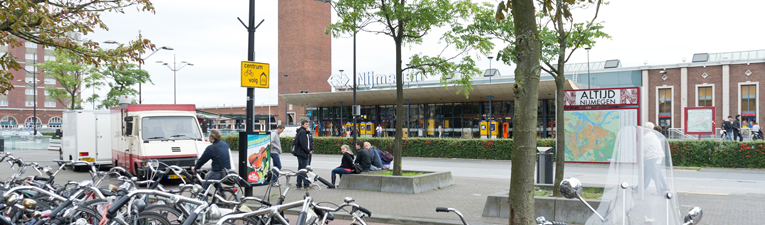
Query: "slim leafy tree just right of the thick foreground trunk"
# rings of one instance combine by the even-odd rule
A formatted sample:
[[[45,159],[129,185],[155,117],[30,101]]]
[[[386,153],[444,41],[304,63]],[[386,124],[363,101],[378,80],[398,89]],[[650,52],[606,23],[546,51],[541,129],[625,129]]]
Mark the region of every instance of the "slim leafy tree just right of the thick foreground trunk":
[[[602,0],[593,3],[592,0],[543,0],[543,19],[548,20],[552,29],[541,27],[542,69],[555,78],[556,101],[555,115],[558,118],[556,127],[555,152],[555,196],[560,197],[560,182],[563,181],[566,161],[566,133],[563,123],[564,91],[566,84],[565,66],[571,55],[579,48],[592,47],[596,39],[611,38],[603,32],[603,24],[595,23],[600,12]],[[571,11],[577,8],[595,6],[595,15],[586,23],[575,23]],[[569,50],[570,48],[570,50]]]

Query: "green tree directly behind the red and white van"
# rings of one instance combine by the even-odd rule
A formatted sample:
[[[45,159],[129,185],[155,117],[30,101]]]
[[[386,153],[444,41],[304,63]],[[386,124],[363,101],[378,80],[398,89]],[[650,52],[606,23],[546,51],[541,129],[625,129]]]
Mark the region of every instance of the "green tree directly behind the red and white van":
[[[108,109],[119,105],[120,96],[132,96],[135,97],[138,91],[133,89],[133,86],[139,83],[152,83],[149,73],[145,70],[138,69],[135,64],[125,64],[122,67],[106,66],[99,69],[92,75],[92,85],[98,89],[101,87],[107,87],[109,92],[106,93],[103,99],[100,99],[100,104],[97,108]],[[153,83],[152,83],[153,84]],[[93,95],[88,98],[90,101],[95,102],[99,99],[98,95]],[[133,98],[132,104],[136,104],[135,98]]]

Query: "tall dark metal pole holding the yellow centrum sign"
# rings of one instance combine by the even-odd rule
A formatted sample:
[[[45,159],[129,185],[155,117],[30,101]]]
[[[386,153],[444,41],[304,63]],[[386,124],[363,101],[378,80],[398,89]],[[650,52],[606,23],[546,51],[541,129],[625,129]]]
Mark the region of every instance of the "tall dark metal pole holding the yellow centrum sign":
[[[247,27],[247,60],[248,61],[254,61],[255,60],[255,0],[250,0],[250,15],[249,15],[249,26]],[[245,119],[245,131],[246,132],[253,132],[253,104],[255,103],[255,89],[254,88],[247,88],[247,118]],[[286,109],[286,107],[285,107]],[[244,147],[244,148],[243,148]],[[240,158],[242,158],[243,155],[247,155],[246,151],[242,151],[247,149],[246,146],[240,146]],[[242,154],[244,153],[244,154]],[[240,165],[243,165],[244,163],[239,163]],[[240,166],[241,167],[241,166]],[[247,168],[239,168],[239,174],[245,174],[242,172],[247,172]],[[245,188],[244,189],[244,196],[252,196],[252,188]]]

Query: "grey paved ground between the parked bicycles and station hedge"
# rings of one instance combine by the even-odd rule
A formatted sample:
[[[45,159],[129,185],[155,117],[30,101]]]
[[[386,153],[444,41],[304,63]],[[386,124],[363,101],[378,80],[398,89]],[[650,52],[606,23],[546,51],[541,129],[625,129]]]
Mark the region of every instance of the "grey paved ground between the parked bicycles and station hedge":
[[[233,152],[236,154],[236,152]],[[36,161],[53,166],[50,160],[58,158],[55,151],[16,151],[14,156],[26,161]],[[329,180],[330,170],[339,163],[339,156],[316,155],[312,166],[315,172]],[[471,224],[507,224],[504,218],[482,217],[486,196],[507,191],[510,184],[510,161],[463,160],[404,158],[404,169],[451,171],[454,185],[423,192],[420,194],[393,194],[371,191],[344,189],[311,190],[310,194],[318,202],[342,203],[344,197],[353,197],[356,202],[370,209],[373,213],[370,222],[384,224],[459,224],[454,214],[436,213],[438,206],[459,209]],[[290,154],[282,155],[285,169],[295,169],[297,162]],[[2,166],[2,165],[0,165]],[[6,165],[7,166],[7,165]],[[12,170],[0,169],[0,176],[9,177]],[[568,164],[567,176],[575,176],[584,183],[597,184],[605,179],[605,165]],[[27,174],[34,170],[27,171]],[[56,180],[84,180],[89,175],[85,172],[63,171]],[[281,179],[284,183],[284,179]],[[106,182],[109,183],[109,182]],[[294,179],[291,181],[294,186]],[[678,199],[684,213],[692,206],[704,209],[702,224],[745,224],[765,220],[762,213],[765,208],[765,170],[753,169],[717,169],[693,168],[675,171],[675,185]],[[166,187],[172,187],[167,184]],[[255,188],[256,196],[263,196],[266,187]],[[274,189],[271,196],[278,190]],[[304,191],[293,189],[287,201],[302,198]],[[272,201],[275,201],[272,199]],[[337,213],[342,214],[342,213]],[[341,218],[338,216],[338,218]],[[340,222],[337,222],[338,224]],[[756,222],[755,222],[756,223]]]

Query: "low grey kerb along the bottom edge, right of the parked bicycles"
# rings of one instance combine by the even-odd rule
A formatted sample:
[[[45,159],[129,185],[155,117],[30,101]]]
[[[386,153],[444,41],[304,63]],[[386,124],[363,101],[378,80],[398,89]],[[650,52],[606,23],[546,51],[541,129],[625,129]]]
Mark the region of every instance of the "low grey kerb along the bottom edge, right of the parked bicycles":
[[[290,215],[298,215],[300,213],[300,210],[288,209],[288,210],[285,210],[284,213],[290,214]],[[334,215],[335,215],[335,219],[353,220],[353,217],[351,217],[351,215],[347,213],[338,212],[338,213],[334,213]],[[444,213],[443,215],[444,217],[454,216],[455,218],[459,218],[457,217],[457,215],[454,215],[452,213]],[[455,221],[455,220],[389,216],[389,215],[374,214],[374,212],[372,212],[372,217],[367,217],[365,220],[366,222],[370,222],[370,223],[387,223],[387,224],[462,225],[462,222]],[[480,222],[470,222],[470,221],[467,221],[467,222],[470,224],[476,224],[476,225],[494,225],[493,223],[480,223]]]

